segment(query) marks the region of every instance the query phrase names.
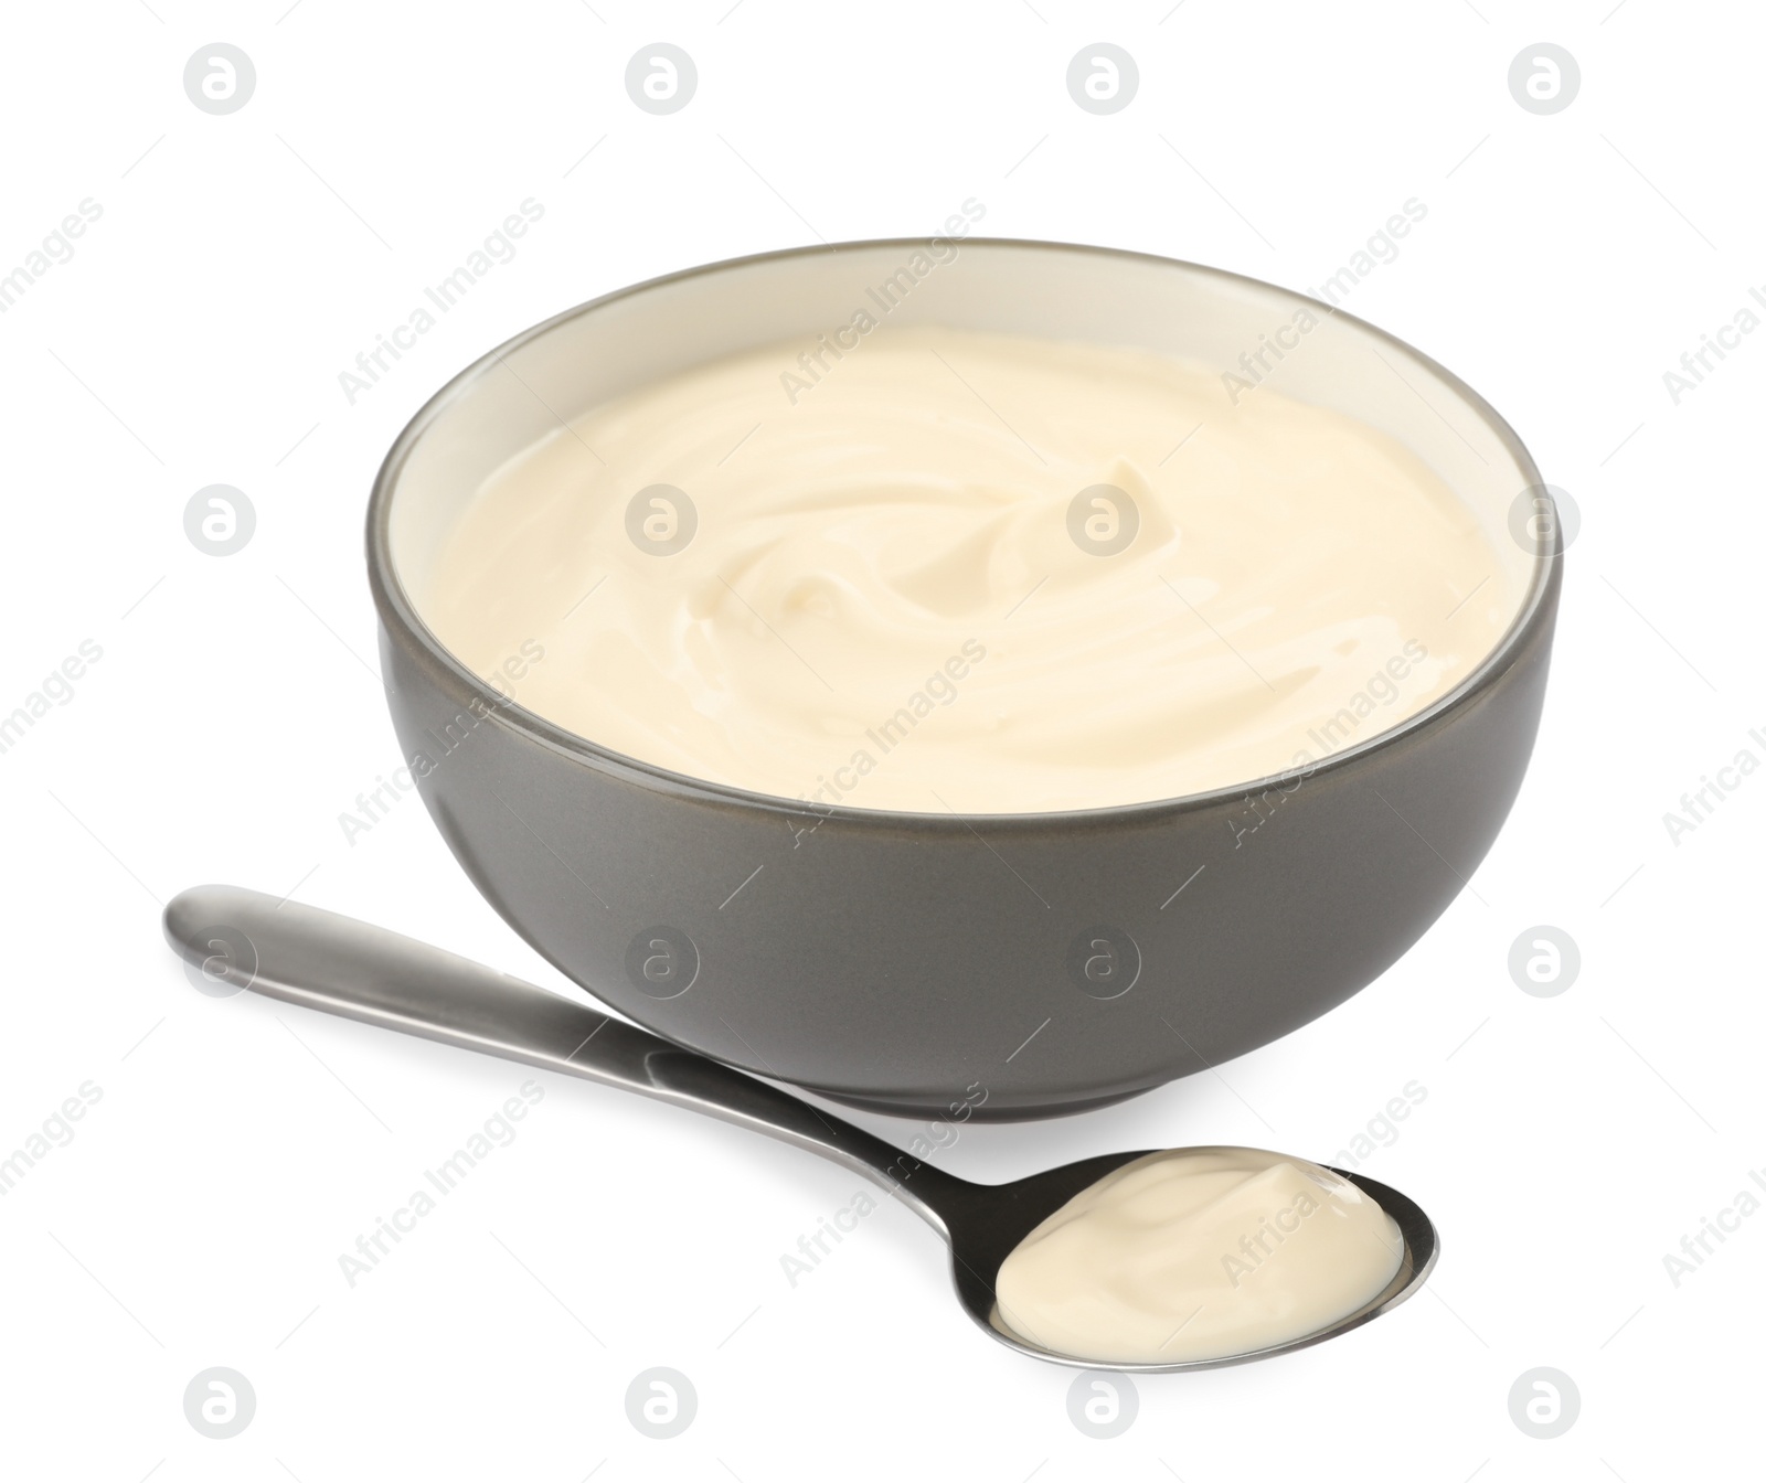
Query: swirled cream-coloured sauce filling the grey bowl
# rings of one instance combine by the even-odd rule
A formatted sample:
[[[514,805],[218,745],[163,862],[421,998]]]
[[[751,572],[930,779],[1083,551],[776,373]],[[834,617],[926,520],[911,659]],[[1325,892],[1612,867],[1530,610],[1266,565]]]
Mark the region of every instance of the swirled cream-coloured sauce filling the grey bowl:
[[[539,646],[523,706],[678,773],[994,814],[1300,768],[1445,694],[1515,611],[1471,510],[1339,413],[950,328],[878,330],[814,383],[800,353],[638,387],[498,470],[417,595],[442,643],[505,687]]]

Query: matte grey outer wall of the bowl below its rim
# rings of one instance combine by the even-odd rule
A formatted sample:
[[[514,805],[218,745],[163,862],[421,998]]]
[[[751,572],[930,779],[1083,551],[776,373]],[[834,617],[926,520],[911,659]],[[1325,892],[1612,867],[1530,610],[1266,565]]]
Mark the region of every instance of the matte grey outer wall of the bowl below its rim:
[[[523,937],[706,1056],[948,1119],[1146,1091],[1300,1028],[1392,966],[1515,800],[1559,584],[1554,561],[1482,685],[1312,777],[973,819],[823,816],[590,763],[438,662],[378,581],[376,598],[399,743],[433,764],[419,791]],[[1070,967],[1075,943],[1100,939],[1116,982],[1139,955],[1109,999]],[[641,989],[645,957],[673,971],[666,992],[689,987]]]

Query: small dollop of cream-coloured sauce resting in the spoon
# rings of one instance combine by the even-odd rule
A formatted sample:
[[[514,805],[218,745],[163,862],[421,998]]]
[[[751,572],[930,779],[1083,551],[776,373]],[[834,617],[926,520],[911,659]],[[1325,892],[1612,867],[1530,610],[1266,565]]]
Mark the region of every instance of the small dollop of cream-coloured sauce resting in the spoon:
[[[1058,1354],[1176,1365],[1307,1338],[1379,1296],[1402,1257],[1392,1218],[1317,1163],[1173,1149],[1044,1220],[996,1298],[1008,1329]]]

